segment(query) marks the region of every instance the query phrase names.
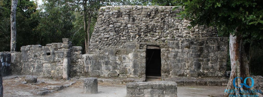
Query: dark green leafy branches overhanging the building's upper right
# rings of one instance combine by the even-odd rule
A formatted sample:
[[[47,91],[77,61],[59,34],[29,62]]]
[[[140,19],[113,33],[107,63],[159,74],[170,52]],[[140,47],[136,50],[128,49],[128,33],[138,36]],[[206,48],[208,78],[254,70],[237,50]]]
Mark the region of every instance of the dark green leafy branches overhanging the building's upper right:
[[[224,33],[249,34],[262,39],[261,0],[177,0],[184,10],[179,18],[191,20],[191,25],[216,26]],[[235,29],[238,33],[235,33]]]

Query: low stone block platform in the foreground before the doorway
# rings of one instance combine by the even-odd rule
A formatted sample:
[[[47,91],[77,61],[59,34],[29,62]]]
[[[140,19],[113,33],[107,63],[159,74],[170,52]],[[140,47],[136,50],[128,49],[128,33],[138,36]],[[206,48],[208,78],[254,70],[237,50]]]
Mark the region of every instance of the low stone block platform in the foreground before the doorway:
[[[132,82],[126,87],[126,97],[177,97],[177,84],[171,81]]]

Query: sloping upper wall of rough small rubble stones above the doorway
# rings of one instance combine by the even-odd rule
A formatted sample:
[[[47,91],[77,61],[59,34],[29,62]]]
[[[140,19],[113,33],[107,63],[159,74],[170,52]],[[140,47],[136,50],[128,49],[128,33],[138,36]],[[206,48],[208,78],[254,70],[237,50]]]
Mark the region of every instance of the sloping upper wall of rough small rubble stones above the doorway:
[[[188,29],[188,20],[176,19],[181,9],[167,6],[101,7],[90,40],[90,54],[103,49],[127,49],[125,44],[164,43],[175,37],[217,37],[214,29],[196,26]]]

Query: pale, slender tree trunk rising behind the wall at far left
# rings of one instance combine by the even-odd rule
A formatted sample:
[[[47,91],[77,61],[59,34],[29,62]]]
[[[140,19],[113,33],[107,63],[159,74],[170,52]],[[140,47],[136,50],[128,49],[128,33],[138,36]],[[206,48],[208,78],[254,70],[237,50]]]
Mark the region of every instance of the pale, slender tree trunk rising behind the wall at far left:
[[[10,21],[11,21],[11,52],[16,51],[16,8],[17,8],[17,2],[18,0],[12,0],[11,4],[11,15],[10,15]]]

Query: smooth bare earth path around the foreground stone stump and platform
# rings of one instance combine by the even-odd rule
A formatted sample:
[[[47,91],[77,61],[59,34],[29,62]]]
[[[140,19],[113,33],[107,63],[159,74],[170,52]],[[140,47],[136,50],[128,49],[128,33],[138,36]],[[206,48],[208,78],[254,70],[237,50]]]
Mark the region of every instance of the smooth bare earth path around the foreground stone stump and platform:
[[[225,90],[224,86],[179,86],[178,97],[213,97],[221,95]],[[77,83],[63,90],[47,94],[52,97],[125,97],[125,85],[104,85],[99,84],[98,94],[84,94],[83,84]]]

